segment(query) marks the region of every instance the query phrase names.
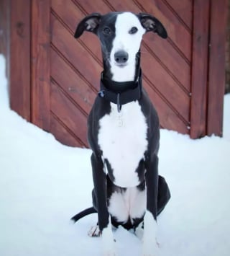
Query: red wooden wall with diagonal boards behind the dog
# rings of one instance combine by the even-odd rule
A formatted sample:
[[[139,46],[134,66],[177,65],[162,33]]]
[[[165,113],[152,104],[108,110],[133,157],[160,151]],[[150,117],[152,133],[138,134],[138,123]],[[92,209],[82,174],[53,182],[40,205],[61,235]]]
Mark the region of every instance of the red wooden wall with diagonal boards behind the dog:
[[[191,138],[221,136],[226,0],[11,3],[11,106],[64,144],[87,146],[101,49],[96,36],[75,40],[73,33],[91,12],[149,12],[160,19],[169,37],[148,33],[141,50],[144,87],[162,128]]]

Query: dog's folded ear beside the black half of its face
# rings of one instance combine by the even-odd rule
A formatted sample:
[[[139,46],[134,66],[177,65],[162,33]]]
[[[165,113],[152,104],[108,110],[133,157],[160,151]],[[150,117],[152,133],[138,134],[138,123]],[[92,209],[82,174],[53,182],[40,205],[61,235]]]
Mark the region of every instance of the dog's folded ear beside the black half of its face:
[[[82,35],[85,30],[96,34],[96,31],[97,31],[100,21],[101,21],[101,14],[99,14],[99,13],[93,13],[93,14],[86,16],[78,24],[78,27],[75,30],[74,37],[75,38],[80,37],[80,35]]]

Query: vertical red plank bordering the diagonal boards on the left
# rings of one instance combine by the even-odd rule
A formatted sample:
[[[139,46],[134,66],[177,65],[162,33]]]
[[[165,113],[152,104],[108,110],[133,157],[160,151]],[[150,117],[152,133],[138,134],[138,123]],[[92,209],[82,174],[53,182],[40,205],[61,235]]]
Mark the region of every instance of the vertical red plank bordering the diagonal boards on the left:
[[[50,0],[32,1],[32,123],[50,130]]]

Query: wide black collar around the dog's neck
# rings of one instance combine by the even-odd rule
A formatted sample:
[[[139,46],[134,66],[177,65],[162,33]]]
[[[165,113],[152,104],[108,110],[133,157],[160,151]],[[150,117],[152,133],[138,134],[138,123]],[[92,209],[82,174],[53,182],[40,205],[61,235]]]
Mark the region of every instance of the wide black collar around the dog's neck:
[[[142,96],[142,71],[140,69],[139,76],[135,81],[112,81],[103,78],[101,73],[101,88],[98,92],[99,97],[113,102],[117,105],[118,112],[121,111],[121,106],[139,100]]]

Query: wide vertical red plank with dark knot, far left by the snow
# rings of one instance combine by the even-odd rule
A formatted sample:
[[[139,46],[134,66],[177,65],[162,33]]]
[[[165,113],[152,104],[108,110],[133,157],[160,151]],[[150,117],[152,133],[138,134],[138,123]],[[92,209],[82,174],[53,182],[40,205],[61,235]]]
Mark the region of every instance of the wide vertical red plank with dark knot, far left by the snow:
[[[30,120],[30,2],[10,5],[10,105]]]

